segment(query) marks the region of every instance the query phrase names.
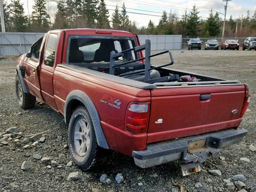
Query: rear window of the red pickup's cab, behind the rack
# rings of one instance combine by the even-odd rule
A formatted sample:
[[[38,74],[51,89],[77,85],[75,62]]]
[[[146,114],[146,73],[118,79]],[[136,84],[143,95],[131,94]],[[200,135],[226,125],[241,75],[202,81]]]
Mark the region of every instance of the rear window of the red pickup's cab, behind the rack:
[[[71,36],[68,47],[69,63],[108,63],[110,52],[121,52],[136,47],[135,38],[111,36]],[[138,58],[134,51],[125,52],[116,62]]]

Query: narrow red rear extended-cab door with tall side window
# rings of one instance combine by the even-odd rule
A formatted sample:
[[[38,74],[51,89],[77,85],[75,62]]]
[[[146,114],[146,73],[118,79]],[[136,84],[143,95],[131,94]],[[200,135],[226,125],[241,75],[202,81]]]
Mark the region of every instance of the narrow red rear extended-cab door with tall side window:
[[[54,101],[53,73],[55,70],[55,55],[58,42],[58,34],[50,33],[46,39],[44,56],[40,68],[40,85],[44,102],[55,110],[57,106]]]

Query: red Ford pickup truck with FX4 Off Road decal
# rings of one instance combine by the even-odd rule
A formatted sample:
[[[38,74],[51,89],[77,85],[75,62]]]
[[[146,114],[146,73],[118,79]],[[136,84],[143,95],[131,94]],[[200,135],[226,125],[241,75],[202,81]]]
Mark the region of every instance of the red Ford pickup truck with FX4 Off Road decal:
[[[165,53],[169,64],[150,64]],[[23,109],[38,98],[64,116],[82,170],[104,148],[142,168],[180,160],[187,175],[247,134],[239,124],[250,95],[239,81],[165,68],[171,64],[171,52],[151,55],[150,41],[140,45],[130,32],[53,30],[18,57],[16,96]]]

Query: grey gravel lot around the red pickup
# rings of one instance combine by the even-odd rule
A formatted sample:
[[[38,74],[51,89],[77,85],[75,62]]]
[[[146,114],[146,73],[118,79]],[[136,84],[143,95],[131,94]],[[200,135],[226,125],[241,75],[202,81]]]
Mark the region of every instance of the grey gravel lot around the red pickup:
[[[82,172],[76,166],[67,166],[71,161],[69,150],[64,148],[68,141],[68,126],[64,118],[48,106],[37,102],[30,110],[22,110],[16,102],[14,79],[15,62],[0,62],[0,132],[16,126],[24,135],[44,133],[44,143],[24,149],[27,144],[22,143],[26,136],[7,141],[8,145],[0,146],[0,191],[69,191],[69,192],[114,192],[114,191],[160,191],[174,192],[178,188],[173,186],[179,183],[186,192],[223,191],[237,192],[241,190],[223,179],[232,178],[236,174],[246,177],[243,187],[248,192],[256,191],[256,152],[249,150],[250,144],[256,146],[256,52],[255,51],[211,51],[211,50],[174,50],[175,60],[171,68],[195,72],[224,78],[240,80],[250,85],[252,96],[249,110],[244,115],[241,127],[249,130],[249,134],[240,144],[230,146],[202,163],[203,171],[182,177],[180,163],[170,162],[152,168],[141,169],[135,166],[132,158],[114,152],[102,161],[100,166],[88,172]],[[152,58],[153,64],[168,63],[168,56]],[[1,134],[1,133],[0,133]],[[62,136],[58,139],[57,136]],[[28,144],[32,144],[29,142]],[[49,157],[62,167],[47,166],[51,162],[43,163],[33,158],[33,154]],[[220,159],[224,157],[224,160]],[[241,161],[246,157],[250,162]],[[22,162],[30,164],[29,170],[22,170]],[[221,176],[214,176],[208,171],[220,170]],[[68,182],[70,172],[78,172],[79,180]],[[116,174],[121,173],[124,181],[118,184]],[[106,174],[111,182],[100,182],[100,176]],[[142,186],[139,186],[142,183]],[[196,184],[200,182],[202,186]],[[234,180],[231,180],[234,184]],[[196,188],[195,185],[199,185]],[[229,187],[229,188],[228,188]],[[234,188],[230,189],[230,188]]]

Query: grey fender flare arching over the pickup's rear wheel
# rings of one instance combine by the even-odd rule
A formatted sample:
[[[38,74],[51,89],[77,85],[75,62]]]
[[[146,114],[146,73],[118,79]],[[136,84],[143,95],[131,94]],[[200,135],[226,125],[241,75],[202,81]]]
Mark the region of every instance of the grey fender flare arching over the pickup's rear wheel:
[[[65,122],[69,123],[69,121],[70,121],[71,115],[68,116],[68,114],[71,113],[70,101],[72,101],[72,100],[78,100],[78,101],[82,102],[82,104],[84,104],[84,106],[86,107],[86,109],[88,110],[88,112],[91,116],[98,146],[100,146],[101,148],[104,148],[104,149],[109,149],[106,138],[102,131],[102,127],[100,125],[100,117],[98,115],[98,112],[97,112],[92,100],[89,98],[89,96],[86,93],[84,93],[80,90],[73,90],[72,92],[70,92],[68,94],[68,96],[66,98],[66,102],[65,102],[65,108],[64,108]]]

